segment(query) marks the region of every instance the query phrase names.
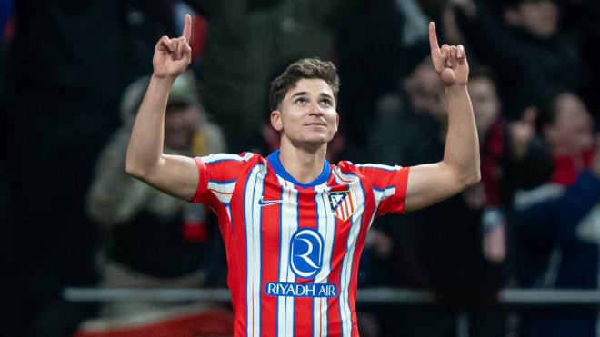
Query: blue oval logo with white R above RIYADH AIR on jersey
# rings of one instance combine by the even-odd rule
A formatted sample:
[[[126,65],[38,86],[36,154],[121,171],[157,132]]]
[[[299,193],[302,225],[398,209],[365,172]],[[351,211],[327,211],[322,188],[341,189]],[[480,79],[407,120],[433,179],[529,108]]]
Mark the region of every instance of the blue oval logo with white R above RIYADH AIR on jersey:
[[[323,238],[312,228],[301,228],[290,240],[290,267],[296,276],[309,279],[323,266]]]

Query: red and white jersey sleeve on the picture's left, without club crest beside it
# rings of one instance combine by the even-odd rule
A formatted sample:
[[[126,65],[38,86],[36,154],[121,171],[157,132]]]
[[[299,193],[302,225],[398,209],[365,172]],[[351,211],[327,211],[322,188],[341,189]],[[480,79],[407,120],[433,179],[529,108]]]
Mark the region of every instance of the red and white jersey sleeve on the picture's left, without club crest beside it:
[[[198,186],[191,203],[213,206],[220,202],[228,205],[240,173],[258,160],[258,154],[209,154],[195,157],[198,167]]]

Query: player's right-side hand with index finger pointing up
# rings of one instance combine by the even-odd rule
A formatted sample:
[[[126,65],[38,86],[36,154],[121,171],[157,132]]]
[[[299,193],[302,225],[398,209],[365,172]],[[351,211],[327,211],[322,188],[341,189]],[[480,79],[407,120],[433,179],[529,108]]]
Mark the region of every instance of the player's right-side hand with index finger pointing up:
[[[466,62],[463,45],[444,44],[440,48],[435,34],[435,24],[429,23],[429,46],[434,69],[446,87],[465,86],[469,77],[469,64]]]

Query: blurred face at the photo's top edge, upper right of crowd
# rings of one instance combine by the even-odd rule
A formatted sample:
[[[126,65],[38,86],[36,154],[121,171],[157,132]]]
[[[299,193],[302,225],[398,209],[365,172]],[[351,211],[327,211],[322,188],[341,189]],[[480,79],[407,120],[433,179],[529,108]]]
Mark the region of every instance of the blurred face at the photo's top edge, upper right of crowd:
[[[558,6],[551,0],[525,0],[505,10],[507,24],[522,26],[539,37],[555,35],[558,18]]]

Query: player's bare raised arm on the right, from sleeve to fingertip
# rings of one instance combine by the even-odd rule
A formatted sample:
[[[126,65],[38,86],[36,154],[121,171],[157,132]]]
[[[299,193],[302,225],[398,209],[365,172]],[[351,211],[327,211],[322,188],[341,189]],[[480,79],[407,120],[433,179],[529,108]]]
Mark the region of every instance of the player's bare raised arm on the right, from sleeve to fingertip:
[[[429,24],[429,45],[437,74],[445,84],[448,133],[444,159],[411,168],[408,174],[405,211],[415,211],[441,202],[480,180],[479,142],[473,106],[466,90],[469,65],[462,45],[442,45]]]

